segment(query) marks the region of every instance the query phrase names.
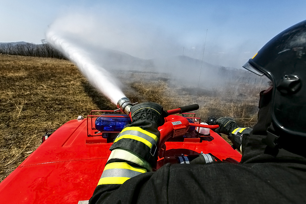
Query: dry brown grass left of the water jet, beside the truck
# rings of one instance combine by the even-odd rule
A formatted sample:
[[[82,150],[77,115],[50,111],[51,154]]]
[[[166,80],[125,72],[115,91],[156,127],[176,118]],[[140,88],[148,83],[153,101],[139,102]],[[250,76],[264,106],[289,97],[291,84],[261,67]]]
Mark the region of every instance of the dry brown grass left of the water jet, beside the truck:
[[[45,132],[115,109],[70,61],[0,55],[0,181],[40,144]]]

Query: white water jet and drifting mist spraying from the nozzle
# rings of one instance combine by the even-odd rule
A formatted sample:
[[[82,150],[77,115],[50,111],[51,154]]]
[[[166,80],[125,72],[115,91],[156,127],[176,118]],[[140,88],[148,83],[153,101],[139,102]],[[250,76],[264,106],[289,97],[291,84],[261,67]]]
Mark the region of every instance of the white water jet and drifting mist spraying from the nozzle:
[[[176,85],[196,87],[202,67],[200,87],[205,88],[222,86],[226,80],[234,79],[236,76],[219,72],[218,65],[235,64],[237,57],[233,53],[238,52],[229,49],[230,46],[209,42],[209,32],[203,66],[204,42],[189,40],[186,43],[178,33],[106,13],[68,13],[59,17],[49,27],[47,41],[62,50],[88,80],[116,104],[124,95],[108,72],[122,77],[125,77],[124,71],[158,72]],[[239,50],[243,50],[244,55],[250,54],[244,53],[242,48]],[[241,65],[248,60],[243,57],[238,57],[242,58]],[[159,79],[159,76],[154,77]]]

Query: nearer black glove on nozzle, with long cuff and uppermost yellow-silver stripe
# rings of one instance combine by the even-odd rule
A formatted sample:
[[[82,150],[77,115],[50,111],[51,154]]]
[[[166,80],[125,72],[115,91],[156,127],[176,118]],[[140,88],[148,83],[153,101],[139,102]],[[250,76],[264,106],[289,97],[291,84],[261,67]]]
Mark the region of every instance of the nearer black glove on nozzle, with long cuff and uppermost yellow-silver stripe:
[[[157,103],[144,102],[131,107],[132,124],[127,124],[110,147],[128,150],[138,158],[155,166],[160,132],[158,127],[165,123],[163,107]],[[137,138],[141,137],[141,140]],[[122,158],[122,157],[121,157]]]

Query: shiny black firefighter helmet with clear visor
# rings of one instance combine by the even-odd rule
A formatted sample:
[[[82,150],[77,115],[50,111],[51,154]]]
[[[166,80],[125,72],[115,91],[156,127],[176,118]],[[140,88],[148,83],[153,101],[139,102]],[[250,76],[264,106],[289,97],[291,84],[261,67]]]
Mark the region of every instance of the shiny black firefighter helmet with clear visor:
[[[243,67],[271,80],[271,118],[281,135],[305,138],[306,20],[276,35]]]

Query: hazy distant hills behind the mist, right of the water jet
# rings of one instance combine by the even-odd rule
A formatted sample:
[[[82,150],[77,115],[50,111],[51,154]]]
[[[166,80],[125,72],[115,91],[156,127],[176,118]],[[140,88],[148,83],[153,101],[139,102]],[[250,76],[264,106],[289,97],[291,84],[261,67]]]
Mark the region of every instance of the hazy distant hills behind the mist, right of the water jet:
[[[156,73],[156,77],[160,77],[161,73],[165,73],[164,77],[176,81],[177,84],[189,84],[190,86],[197,86],[202,64],[201,60],[183,55],[145,60],[115,50],[104,50],[94,58],[99,59],[99,64],[114,74],[123,70],[151,72]],[[252,84],[267,83],[267,79],[245,69],[212,65],[203,61],[200,84],[209,86],[212,83],[222,84],[231,80]]]

